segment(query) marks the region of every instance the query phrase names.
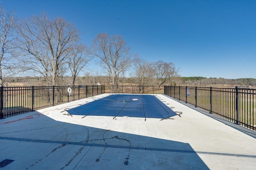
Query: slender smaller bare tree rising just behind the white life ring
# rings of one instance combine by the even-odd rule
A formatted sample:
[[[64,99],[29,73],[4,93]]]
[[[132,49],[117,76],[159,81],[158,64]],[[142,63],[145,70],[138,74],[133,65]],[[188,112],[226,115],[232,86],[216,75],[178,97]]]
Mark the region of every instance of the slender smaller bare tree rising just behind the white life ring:
[[[86,45],[74,45],[70,55],[68,56],[68,66],[72,75],[72,85],[75,85],[76,76],[85,67],[85,65],[93,59],[89,55]]]

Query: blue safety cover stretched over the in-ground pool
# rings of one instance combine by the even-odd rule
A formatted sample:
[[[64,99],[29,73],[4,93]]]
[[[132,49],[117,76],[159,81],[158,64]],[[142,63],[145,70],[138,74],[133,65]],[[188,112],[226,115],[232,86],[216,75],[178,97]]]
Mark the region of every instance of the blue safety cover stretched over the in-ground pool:
[[[166,119],[177,115],[154,95],[109,95],[67,110],[70,115]]]

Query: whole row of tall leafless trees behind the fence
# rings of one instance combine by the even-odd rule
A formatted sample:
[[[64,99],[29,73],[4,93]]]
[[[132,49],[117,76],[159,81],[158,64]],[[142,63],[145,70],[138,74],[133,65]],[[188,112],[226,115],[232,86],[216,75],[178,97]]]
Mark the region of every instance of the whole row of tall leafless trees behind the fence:
[[[18,19],[15,11],[0,6],[0,85],[7,77],[26,76],[44,85],[75,85],[79,73],[92,71],[86,65],[95,57],[112,91],[119,91],[125,75],[136,77],[142,88],[156,81],[159,88],[167,81],[174,83],[179,68],[172,62],[148,62],[130,52],[121,35],[100,33],[88,47],[80,39],[74,24],[64,18],[49,18],[45,13]],[[89,77],[97,77],[92,75]],[[66,78],[68,83],[66,82]],[[86,77],[86,76],[84,76]],[[87,78],[89,78],[87,76]]]

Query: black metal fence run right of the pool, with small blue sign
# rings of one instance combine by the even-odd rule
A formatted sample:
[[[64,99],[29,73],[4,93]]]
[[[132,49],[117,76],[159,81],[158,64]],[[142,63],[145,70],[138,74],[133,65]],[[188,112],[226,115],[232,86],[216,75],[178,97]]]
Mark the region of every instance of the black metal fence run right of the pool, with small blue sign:
[[[256,131],[256,89],[164,86],[164,94]]]

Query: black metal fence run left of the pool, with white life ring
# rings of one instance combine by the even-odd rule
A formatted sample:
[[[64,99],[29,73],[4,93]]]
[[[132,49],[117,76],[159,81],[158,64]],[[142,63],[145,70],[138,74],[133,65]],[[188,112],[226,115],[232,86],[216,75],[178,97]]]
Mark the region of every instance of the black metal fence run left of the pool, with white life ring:
[[[104,85],[1,87],[0,119],[105,93]]]

